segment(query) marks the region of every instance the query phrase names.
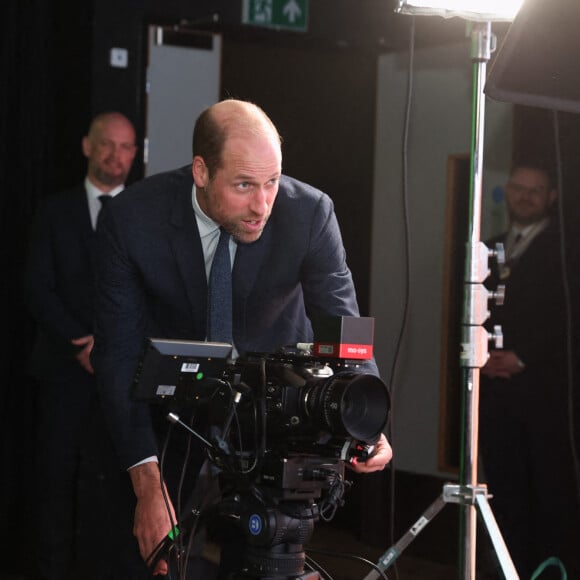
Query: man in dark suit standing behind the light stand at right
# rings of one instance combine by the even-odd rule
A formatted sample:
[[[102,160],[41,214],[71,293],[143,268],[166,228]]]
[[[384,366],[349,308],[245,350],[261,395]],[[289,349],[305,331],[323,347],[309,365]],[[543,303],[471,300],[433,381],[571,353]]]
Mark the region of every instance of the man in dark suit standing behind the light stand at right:
[[[505,264],[489,280],[505,285],[505,303],[491,308],[504,348],[482,368],[480,442],[492,508],[521,578],[548,557],[577,578],[579,510],[571,448],[565,282],[576,304],[572,255],[566,263],[550,172],[539,163],[514,165],[505,187],[510,228]],[[568,268],[567,274],[565,265]],[[572,306],[572,304],[570,306]],[[556,571],[555,571],[556,572]],[[543,576],[543,574],[542,574]],[[552,576],[549,576],[552,577]],[[556,572],[554,577],[560,577]]]

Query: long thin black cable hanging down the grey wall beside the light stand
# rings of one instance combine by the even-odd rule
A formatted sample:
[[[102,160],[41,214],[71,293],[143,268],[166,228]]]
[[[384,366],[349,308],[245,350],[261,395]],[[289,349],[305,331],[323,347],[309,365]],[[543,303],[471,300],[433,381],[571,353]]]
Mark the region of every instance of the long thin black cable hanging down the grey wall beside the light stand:
[[[408,142],[409,142],[409,125],[411,119],[411,105],[413,102],[413,75],[414,75],[414,61],[415,61],[415,17],[410,19],[409,28],[409,74],[407,77],[407,99],[405,104],[405,115],[403,125],[403,144],[401,151],[402,161],[402,203],[403,203],[403,236],[404,236],[404,255],[405,255],[405,274],[404,274],[404,302],[403,314],[401,318],[401,326],[399,328],[399,335],[395,347],[395,354],[393,356],[393,364],[389,375],[388,390],[391,400],[391,410],[389,413],[389,420],[387,424],[387,436],[392,445],[394,445],[395,432],[395,379],[400,362],[401,348],[403,339],[407,331],[409,318],[409,303],[410,303],[410,288],[411,288],[411,250],[410,250],[410,226],[409,226],[409,164],[408,164]],[[390,464],[390,516],[389,516],[389,541],[391,544],[395,542],[395,460],[391,459]],[[397,564],[393,565],[395,578],[399,578]]]

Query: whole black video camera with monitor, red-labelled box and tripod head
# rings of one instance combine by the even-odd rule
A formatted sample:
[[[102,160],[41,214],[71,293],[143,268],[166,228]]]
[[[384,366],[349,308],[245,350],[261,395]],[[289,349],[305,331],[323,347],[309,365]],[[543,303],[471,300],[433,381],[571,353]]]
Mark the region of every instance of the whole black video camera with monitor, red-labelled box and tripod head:
[[[135,375],[135,398],[165,405],[203,442],[220,494],[195,519],[219,542],[243,545],[241,578],[302,575],[314,522],[342,505],[345,463],[365,461],[386,426],[387,388],[364,372],[372,319],[318,328],[315,337],[329,340],[235,361],[228,344],[148,339]],[[180,420],[190,408],[205,433]]]

